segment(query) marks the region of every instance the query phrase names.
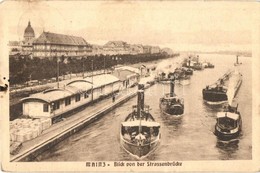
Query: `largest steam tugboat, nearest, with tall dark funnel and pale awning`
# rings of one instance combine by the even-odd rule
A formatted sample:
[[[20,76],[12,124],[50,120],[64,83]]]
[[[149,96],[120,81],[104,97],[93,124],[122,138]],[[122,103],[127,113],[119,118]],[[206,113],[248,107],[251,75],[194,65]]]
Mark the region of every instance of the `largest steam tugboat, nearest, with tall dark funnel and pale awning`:
[[[144,105],[144,85],[138,85],[137,105],[121,123],[120,143],[124,150],[142,159],[156,149],[160,142],[160,124]]]

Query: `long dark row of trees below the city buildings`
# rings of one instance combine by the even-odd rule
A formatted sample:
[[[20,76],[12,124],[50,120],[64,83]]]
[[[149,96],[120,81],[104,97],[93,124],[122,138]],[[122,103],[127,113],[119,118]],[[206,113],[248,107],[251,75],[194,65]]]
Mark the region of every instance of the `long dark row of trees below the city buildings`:
[[[133,64],[168,58],[166,53],[140,55],[95,55],[88,57],[44,58],[10,56],[10,84],[22,84],[29,80],[50,79],[59,75],[108,69],[117,64]]]

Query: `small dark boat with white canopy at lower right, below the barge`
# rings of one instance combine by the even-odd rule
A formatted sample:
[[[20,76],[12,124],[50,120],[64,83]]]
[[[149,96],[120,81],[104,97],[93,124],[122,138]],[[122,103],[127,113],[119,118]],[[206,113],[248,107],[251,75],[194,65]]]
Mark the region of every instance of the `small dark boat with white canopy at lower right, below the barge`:
[[[236,107],[228,105],[223,112],[218,112],[214,134],[219,140],[230,141],[237,138],[242,131],[242,119]]]

